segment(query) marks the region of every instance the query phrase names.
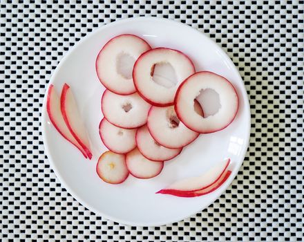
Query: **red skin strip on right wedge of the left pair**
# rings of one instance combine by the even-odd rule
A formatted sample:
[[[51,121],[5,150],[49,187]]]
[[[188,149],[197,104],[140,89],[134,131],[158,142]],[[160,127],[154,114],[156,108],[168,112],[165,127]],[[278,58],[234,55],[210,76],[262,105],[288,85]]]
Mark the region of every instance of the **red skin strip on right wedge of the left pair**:
[[[70,126],[70,122],[68,122],[68,115],[66,114],[66,109],[65,109],[65,106],[66,106],[66,93],[68,92],[68,89],[70,89],[70,86],[68,86],[68,84],[65,83],[64,87],[62,88],[61,97],[60,97],[61,113],[62,113],[62,116],[64,117],[64,122],[66,122],[66,126],[70,130],[70,133],[72,133],[72,135],[74,136],[75,140],[77,140],[77,142],[79,143],[79,145],[86,152],[86,155],[88,156],[88,158],[91,160],[93,155],[92,155],[90,149],[88,149],[88,147],[86,147],[86,145],[84,145],[84,143],[82,142],[82,140],[80,140],[78,138],[77,134],[74,132],[73,128]]]

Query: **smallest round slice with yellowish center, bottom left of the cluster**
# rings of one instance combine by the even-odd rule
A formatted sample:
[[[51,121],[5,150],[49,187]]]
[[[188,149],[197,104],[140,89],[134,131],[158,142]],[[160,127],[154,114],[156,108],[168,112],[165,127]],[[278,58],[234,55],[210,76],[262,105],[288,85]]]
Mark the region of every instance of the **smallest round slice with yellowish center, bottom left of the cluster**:
[[[112,151],[104,152],[98,159],[96,172],[106,183],[120,184],[129,176],[126,156]]]

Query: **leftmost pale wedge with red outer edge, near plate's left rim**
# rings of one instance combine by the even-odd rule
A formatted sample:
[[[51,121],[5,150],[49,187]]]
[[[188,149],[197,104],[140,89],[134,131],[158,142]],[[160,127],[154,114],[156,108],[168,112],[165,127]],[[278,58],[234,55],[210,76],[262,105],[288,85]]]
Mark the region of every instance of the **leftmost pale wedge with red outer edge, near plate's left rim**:
[[[82,147],[79,145],[77,140],[75,140],[72,133],[66,126],[66,122],[64,122],[64,118],[62,117],[61,110],[60,110],[60,97],[55,91],[53,84],[50,84],[48,88],[48,97],[46,100],[46,111],[48,112],[48,117],[50,118],[50,122],[54,125],[55,129],[63,136],[68,142],[72,143],[82,152],[85,158],[86,152]]]

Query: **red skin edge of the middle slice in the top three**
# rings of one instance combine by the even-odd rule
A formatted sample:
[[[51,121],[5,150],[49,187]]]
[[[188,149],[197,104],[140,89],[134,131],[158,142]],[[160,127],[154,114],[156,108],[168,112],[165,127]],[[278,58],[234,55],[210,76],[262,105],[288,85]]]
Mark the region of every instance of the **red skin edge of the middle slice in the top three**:
[[[170,48],[158,47],[158,48],[153,48],[151,50],[162,50],[162,49],[167,50],[167,49],[170,49]],[[151,50],[146,50],[146,52],[142,53],[142,55],[140,55],[140,57],[138,57],[138,59],[136,60],[136,62],[134,64],[132,76],[133,76],[133,82],[134,82],[135,89],[136,89],[138,95],[140,95],[140,97],[142,97],[143,100],[145,100],[146,102],[149,102],[149,104],[151,104],[153,106],[160,106],[160,107],[163,107],[163,106],[172,106],[174,104],[174,102],[169,102],[169,103],[166,103],[166,104],[159,104],[157,102],[153,102],[152,100],[149,100],[144,95],[142,95],[142,93],[140,92],[140,89],[137,88],[136,78],[135,78],[135,66],[136,66],[137,62],[139,62],[140,59],[142,57],[144,57],[144,55],[146,55]],[[190,57],[188,55],[185,55],[184,53],[182,53],[180,50],[175,50],[175,51],[178,52],[178,53],[180,53],[180,54],[182,54],[182,55],[184,55],[184,57],[187,57],[187,59],[189,59],[189,62],[193,66],[193,72],[195,73],[196,72],[196,68],[195,68],[193,62],[191,61]],[[154,73],[154,68],[155,68],[155,64],[151,68],[151,75],[153,75],[153,73]]]

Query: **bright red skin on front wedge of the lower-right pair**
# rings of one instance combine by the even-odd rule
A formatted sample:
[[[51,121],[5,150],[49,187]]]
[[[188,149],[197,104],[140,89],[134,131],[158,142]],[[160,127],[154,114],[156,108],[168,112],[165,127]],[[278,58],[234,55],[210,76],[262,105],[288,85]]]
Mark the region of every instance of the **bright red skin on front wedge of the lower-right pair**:
[[[216,189],[218,189],[218,187],[220,187],[222,184],[225,183],[225,181],[229,178],[230,174],[231,174],[231,171],[227,171],[227,174],[225,175],[224,178],[222,178],[220,183],[209,191],[206,191],[206,189],[202,189],[197,192],[185,192],[185,191],[180,191],[180,190],[162,189],[162,190],[156,192],[156,194],[169,194],[169,195],[173,195],[173,196],[179,196],[182,198],[193,198],[196,196],[203,196],[203,195],[209,194],[209,193],[215,191]]]

